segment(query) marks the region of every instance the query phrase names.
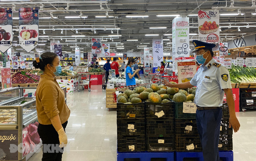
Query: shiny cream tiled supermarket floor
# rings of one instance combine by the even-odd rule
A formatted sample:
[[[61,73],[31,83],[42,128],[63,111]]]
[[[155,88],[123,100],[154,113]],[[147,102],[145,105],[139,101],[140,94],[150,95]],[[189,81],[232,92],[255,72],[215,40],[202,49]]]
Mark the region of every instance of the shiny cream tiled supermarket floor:
[[[66,132],[70,153],[63,154],[63,161],[116,161],[116,110],[106,108],[105,90],[92,86],[76,94],[68,94],[71,110]],[[233,135],[235,161],[256,160],[256,110],[236,114],[241,123]],[[42,152],[34,154],[29,161],[39,161]]]

